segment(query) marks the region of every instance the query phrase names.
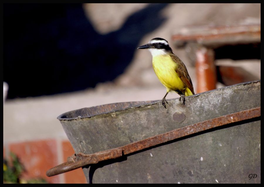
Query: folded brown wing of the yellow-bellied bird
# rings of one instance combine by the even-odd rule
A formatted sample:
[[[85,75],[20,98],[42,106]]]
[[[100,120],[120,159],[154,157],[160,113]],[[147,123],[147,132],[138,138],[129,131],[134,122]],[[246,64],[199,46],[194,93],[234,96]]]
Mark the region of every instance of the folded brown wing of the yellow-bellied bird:
[[[188,74],[186,66],[175,54],[170,54],[170,57],[177,63],[177,69],[175,69],[176,73],[179,75],[184,84],[191,90],[192,94],[194,94],[192,80]]]

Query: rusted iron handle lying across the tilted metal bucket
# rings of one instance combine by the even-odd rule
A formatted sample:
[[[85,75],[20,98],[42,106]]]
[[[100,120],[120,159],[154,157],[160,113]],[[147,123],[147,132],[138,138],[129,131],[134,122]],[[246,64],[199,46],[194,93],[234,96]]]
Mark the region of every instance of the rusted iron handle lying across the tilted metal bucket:
[[[259,116],[260,116],[260,107],[195,123],[189,126],[178,128],[163,134],[152,136],[150,138],[146,138],[144,140],[130,143],[125,146],[110,149],[107,151],[100,151],[89,155],[85,155],[83,153],[78,153],[77,155],[74,154],[71,157],[69,157],[67,162],[49,169],[46,172],[46,175],[49,177],[58,175],[61,173],[65,173],[67,171],[72,171],[82,166],[98,163],[99,161],[118,158],[121,157],[122,155],[140,151],[145,148],[149,148],[197,132],[205,131],[210,128],[226,125],[233,122],[243,121],[246,119],[251,119]]]

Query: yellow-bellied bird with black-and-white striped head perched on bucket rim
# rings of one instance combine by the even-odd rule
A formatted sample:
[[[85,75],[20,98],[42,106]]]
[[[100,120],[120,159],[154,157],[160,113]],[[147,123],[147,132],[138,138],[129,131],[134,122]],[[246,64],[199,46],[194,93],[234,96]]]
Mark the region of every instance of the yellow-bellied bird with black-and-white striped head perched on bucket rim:
[[[138,49],[148,49],[152,55],[152,65],[160,82],[166,87],[167,93],[162,99],[162,105],[166,108],[165,99],[170,91],[179,94],[185,104],[185,96],[194,94],[192,80],[183,62],[172,53],[168,41],[163,38],[153,38],[146,45]]]

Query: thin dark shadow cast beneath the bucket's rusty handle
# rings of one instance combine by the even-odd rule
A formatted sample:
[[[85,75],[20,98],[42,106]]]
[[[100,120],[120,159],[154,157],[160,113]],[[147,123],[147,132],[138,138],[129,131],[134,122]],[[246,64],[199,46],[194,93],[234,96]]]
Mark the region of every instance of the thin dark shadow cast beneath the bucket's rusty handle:
[[[85,167],[91,166],[90,170],[89,170],[89,183],[92,183],[92,178],[93,178],[93,175],[94,175],[94,172],[95,172],[96,169],[102,168],[103,166],[106,166],[106,165],[109,165],[109,164],[112,164],[112,163],[125,161],[125,160],[127,160],[128,156],[131,156],[131,155],[134,155],[134,154],[137,154],[137,153],[141,153],[143,151],[147,151],[147,150],[159,147],[159,146],[164,146],[164,145],[167,145],[167,144],[170,144],[170,143],[174,143],[174,142],[177,142],[177,141],[182,141],[182,140],[185,140],[187,138],[192,138],[194,136],[202,135],[202,134],[205,134],[205,133],[209,133],[209,132],[213,132],[213,131],[217,131],[217,130],[221,130],[221,129],[225,129],[225,128],[231,128],[231,127],[238,126],[238,125],[243,125],[243,124],[254,122],[254,121],[260,121],[260,116],[259,117],[255,117],[255,118],[251,118],[251,119],[247,119],[247,120],[243,120],[243,121],[229,123],[227,125],[211,128],[211,129],[208,129],[208,130],[205,130],[205,131],[201,131],[201,132],[198,132],[198,133],[190,134],[188,136],[177,138],[175,140],[171,140],[171,141],[167,141],[167,142],[164,142],[164,143],[160,143],[160,144],[158,144],[156,146],[151,146],[149,148],[145,148],[145,149],[142,149],[140,151],[136,151],[136,152],[133,152],[133,153],[129,153],[127,155],[123,155],[120,158],[106,160],[106,161],[101,161],[101,162],[99,162],[97,164],[87,165]]]

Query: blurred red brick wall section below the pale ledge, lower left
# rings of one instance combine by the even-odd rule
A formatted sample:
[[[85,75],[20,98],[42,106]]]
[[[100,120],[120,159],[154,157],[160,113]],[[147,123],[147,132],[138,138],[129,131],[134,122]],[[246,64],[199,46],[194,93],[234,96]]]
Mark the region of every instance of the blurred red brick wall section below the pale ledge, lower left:
[[[4,157],[15,153],[25,166],[21,178],[45,178],[49,183],[87,183],[82,169],[76,169],[57,176],[48,177],[46,171],[67,161],[74,154],[69,141],[55,139],[10,143],[3,146]]]

